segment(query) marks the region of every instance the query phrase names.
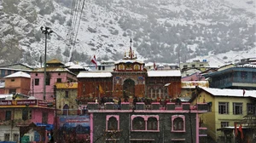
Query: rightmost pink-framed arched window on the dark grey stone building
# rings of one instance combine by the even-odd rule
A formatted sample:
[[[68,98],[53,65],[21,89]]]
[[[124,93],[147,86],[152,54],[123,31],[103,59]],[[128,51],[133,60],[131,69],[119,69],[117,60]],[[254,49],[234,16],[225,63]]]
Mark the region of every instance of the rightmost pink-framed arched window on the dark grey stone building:
[[[172,116],[172,132],[185,132],[185,116],[184,115]]]

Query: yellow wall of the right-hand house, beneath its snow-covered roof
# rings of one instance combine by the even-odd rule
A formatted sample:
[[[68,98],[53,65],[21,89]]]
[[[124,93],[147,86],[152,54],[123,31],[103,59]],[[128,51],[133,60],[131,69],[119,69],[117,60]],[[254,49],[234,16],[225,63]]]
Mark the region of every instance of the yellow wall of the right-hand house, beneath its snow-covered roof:
[[[251,103],[249,98],[243,97],[219,97],[212,96],[207,92],[202,91],[201,94],[192,102],[212,102],[212,112],[207,112],[201,115],[204,125],[207,127],[208,135],[212,139],[217,140],[218,136],[224,135],[217,131],[221,128],[221,122],[229,122],[229,126],[234,126],[234,122],[241,121],[242,117],[247,115],[247,103]],[[218,114],[218,102],[229,102],[229,114]],[[242,102],[242,114],[233,114],[233,102]]]

